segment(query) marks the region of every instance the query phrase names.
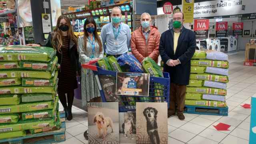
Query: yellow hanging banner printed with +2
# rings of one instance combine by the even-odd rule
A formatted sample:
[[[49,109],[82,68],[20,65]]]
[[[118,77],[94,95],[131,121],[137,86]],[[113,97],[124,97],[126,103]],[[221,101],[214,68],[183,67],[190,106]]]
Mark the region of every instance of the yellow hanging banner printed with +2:
[[[194,20],[194,0],[182,0],[184,23],[192,23]]]

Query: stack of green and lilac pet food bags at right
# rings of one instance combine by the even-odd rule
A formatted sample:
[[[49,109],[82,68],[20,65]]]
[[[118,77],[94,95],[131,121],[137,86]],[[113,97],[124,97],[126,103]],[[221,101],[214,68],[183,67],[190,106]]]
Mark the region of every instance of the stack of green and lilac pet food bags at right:
[[[191,60],[186,105],[226,107],[228,55],[196,50]]]

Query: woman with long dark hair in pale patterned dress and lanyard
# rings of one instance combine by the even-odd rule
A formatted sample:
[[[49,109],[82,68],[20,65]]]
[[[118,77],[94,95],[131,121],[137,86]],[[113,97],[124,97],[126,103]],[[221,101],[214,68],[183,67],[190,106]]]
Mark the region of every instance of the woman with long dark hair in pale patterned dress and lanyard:
[[[97,33],[97,26],[92,17],[84,22],[84,35],[78,38],[78,48],[81,64],[103,57],[102,39]],[[100,91],[92,70],[82,71],[81,75],[82,106],[87,106],[89,101],[100,102]]]

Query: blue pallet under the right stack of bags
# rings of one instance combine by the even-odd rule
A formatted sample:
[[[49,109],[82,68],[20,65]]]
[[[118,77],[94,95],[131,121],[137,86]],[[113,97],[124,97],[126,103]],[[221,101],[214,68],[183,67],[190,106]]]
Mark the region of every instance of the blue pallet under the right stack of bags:
[[[205,114],[215,116],[228,116],[227,107],[211,107],[211,106],[188,106],[184,108],[184,113],[188,114]]]

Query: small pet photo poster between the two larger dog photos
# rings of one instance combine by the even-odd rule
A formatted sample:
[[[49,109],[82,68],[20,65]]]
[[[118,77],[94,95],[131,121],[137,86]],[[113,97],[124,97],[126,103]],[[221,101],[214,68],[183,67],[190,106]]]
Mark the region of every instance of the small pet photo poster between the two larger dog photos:
[[[120,144],[136,144],[136,112],[119,113]]]

